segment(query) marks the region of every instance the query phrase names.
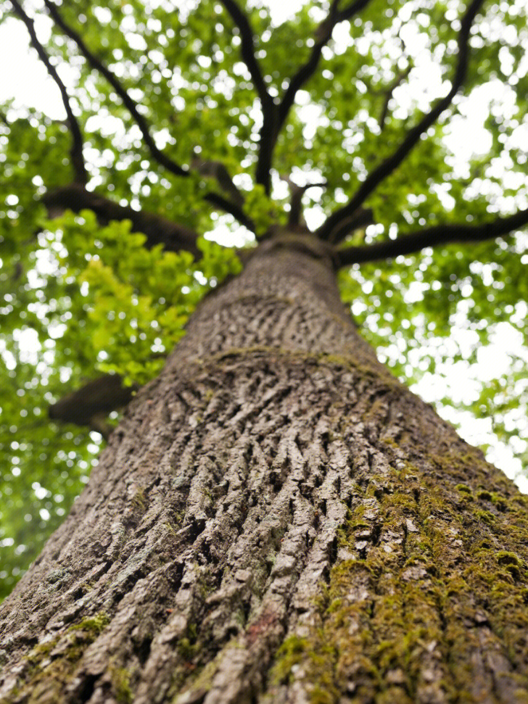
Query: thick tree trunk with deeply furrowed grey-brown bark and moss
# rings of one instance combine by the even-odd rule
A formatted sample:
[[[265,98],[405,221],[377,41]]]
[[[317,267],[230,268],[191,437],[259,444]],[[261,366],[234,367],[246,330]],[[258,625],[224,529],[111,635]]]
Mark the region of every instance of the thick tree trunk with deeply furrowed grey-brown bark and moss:
[[[267,243],[1,606],[0,700],[527,702],[526,508]]]

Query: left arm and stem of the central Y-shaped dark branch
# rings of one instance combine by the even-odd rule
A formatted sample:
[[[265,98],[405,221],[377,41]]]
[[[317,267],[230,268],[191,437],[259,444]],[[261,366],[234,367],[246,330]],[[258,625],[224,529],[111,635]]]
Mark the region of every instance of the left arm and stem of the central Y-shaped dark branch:
[[[257,94],[262,106],[262,128],[259,135],[259,158],[257,161],[255,180],[257,183],[264,186],[266,194],[269,195],[271,191],[271,156],[277,131],[276,105],[273,103],[273,98],[268,92],[262,71],[260,70],[259,63],[255,56],[255,35],[253,34],[247,16],[243,13],[235,0],[221,0],[221,2],[240,31],[242,58],[250,72],[251,79],[257,89]]]

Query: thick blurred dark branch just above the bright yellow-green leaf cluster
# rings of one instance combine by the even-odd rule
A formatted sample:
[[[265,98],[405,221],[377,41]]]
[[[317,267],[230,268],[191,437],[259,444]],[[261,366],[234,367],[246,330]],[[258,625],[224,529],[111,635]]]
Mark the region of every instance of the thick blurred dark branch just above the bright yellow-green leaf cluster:
[[[110,220],[131,220],[133,232],[146,234],[146,244],[153,247],[163,244],[168,251],[185,249],[201,257],[201,252],[196,246],[198,235],[188,227],[178,225],[171,220],[165,220],[160,215],[134,210],[130,206],[120,206],[103,196],[86,191],[80,184],[70,184],[43,196],[42,201],[48,208],[50,218],[57,217],[64,210],[93,210],[101,225],[106,225]]]

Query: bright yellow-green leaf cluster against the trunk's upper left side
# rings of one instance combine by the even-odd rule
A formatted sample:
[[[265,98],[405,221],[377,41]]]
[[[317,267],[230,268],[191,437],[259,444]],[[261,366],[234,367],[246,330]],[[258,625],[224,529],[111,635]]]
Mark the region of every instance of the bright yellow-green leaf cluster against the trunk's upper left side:
[[[91,210],[83,210],[46,225],[57,285],[80,284],[68,288],[70,306],[82,313],[67,326],[63,341],[70,348],[80,337],[84,356],[97,360],[101,372],[122,375],[127,384],[144,384],[160,371],[208,280],[223,278],[233,261],[204,240],[202,248],[216,251],[217,258],[210,257],[209,279],[201,275],[200,284],[192,254],[166,252],[161,244],[146,249],[146,236],[132,234],[129,220],[101,227]]]

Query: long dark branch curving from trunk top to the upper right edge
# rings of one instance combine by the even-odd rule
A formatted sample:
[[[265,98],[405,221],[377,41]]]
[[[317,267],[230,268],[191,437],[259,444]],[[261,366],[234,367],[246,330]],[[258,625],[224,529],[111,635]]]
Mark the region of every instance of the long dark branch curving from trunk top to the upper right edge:
[[[317,234],[323,239],[328,239],[330,232],[333,228],[342,220],[352,215],[354,211],[361,206],[361,204],[368,198],[372,191],[378,187],[378,185],[389,176],[397,166],[401,164],[402,161],[408,156],[414,146],[418,143],[420,137],[427,132],[427,130],[434,125],[440,115],[451,105],[454,96],[461,89],[461,86],[465,80],[465,75],[468,70],[468,60],[470,49],[468,46],[468,39],[470,36],[470,29],[484,0],[472,0],[470,6],[468,6],[465,15],[463,16],[461,23],[461,30],[458,33],[458,63],[456,65],[455,75],[453,77],[453,83],[451,84],[451,90],[449,93],[434,105],[431,110],[423,116],[423,118],[418,122],[418,125],[409,130],[401,142],[400,146],[397,148],[391,156],[389,156],[385,161],[383,161],[371,174],[368,175],[366,180],[361,184],[361,187],[356,191],[356,194],[349,200],[349,202],[335,213],[330,215],[323,225],[318,228]]]

